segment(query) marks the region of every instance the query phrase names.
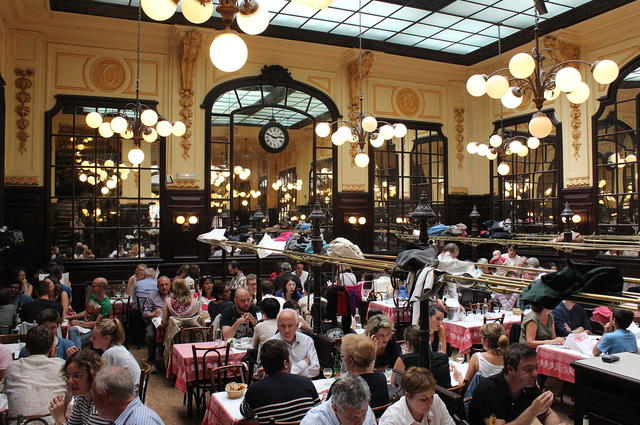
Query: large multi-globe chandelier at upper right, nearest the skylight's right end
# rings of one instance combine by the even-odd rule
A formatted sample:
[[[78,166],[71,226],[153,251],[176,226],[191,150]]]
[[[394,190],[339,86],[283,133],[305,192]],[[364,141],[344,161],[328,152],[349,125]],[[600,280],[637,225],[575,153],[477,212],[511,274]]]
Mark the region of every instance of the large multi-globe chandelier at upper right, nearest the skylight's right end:
[[[593,78],[600,84],[609,84],[617,78],[618,65],[609,59],[593,63],[578,59],[560,62],[552,49],[540,49],[539,13],[546,13],[546,9],[542,1],[535,1],[535,4],[535,47],[531,54],[517,53],[509,61],[507,68],[498,69],[489,75],[472,75],[467,80],[467,91],[475,97],[487,94],[492,99],[500,99],[502,105],[509,109],[519,107],[524,92],[531,91],[538,112],[533,114],[529,122],[529,132],[541,139],[547,137],[553,128],[549,117],[541,112],[545,101],[557,99],[560,92],[564,92],[574,104],[581,104],[589,98],[589,85],[582,81],[578,65],[588,65]],[[511,77],[502,75],[506,71],[511,73]]]

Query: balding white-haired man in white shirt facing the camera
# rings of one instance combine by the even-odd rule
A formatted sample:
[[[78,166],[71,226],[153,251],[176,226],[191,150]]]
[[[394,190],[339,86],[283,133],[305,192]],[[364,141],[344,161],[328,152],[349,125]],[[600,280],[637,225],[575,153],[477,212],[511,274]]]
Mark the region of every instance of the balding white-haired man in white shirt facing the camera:
[[[320,362],[313,339],[298,332],[298,312],[286,308],[278,313],[278,333],[273,339],[287,343],[291,352],[291,373],[315,378],[320,373]]]

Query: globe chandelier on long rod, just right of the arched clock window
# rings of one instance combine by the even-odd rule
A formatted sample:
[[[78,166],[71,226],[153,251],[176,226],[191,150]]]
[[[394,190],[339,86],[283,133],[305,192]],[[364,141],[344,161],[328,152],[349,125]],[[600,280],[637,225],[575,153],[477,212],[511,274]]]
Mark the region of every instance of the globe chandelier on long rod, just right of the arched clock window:
[[[362,9],[362,1],[358,2],[359,9]],[[362,12],[358,12],[358,81],[360,83],[360,113],[357,122],[338,120],[332,123],[320,122],[316,125],[316,135],[324,138],[331,135],[331,143],[341,146],[349,142],[355,148],[360,148],[360,152],[355,155],[354,162],[364,168],[369,165],[369,155],[365,152],[365,147],[371,144],[374,148],[381,147],[386,140],[394,137],[402,138],[407,134],[407,127],[402,123],[390,124],[386,121],[378,121],[371,114],[364,112],[364,87],[363,87],[363,57],[362,51]],[[337,127],[332,134],[331,128]]]

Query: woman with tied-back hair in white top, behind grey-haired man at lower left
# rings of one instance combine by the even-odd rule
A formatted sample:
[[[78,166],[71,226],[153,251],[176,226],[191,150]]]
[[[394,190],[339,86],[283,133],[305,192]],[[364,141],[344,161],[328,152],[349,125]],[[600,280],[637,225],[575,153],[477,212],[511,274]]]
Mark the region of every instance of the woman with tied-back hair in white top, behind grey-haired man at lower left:
[[[103,319],[93,329],[91,345],[102,350],[104,366],[119,366],[126,370],[138,390],[140,382],[140,365],[133,355],[122,344],[124,343],[124,327],[118,319]]]

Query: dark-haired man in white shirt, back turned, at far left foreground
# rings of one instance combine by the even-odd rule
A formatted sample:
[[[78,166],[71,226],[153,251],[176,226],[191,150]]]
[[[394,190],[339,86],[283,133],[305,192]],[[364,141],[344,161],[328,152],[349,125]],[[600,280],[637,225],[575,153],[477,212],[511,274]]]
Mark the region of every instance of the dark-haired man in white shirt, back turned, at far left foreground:
[[[6,370],[9,417],[48,415],[49,402],[67,390],[67,383],[60,374],[64,360],[55,357],[53,334],[49,328],[40,325],[29,329],[26,342],[29,357],[11,362]],[[49,419],[51,417],[47,420],[53,423],[53,419]]]

